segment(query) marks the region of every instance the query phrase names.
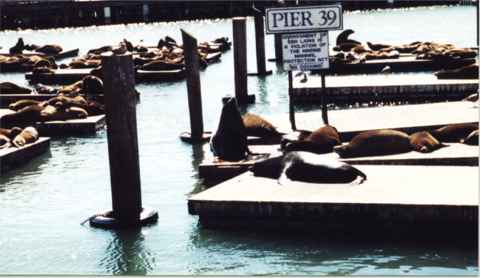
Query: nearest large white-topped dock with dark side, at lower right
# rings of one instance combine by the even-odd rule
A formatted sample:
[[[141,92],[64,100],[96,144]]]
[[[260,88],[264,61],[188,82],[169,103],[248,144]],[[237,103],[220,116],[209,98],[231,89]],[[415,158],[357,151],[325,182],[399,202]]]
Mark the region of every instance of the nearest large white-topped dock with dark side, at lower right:
[[[188,198],[202,226],[478,237],[478,168],[357,166],[363,184],[314,184],[244,173]],[[301,228],[299,228],[301,227]],[[440,229],[440,230],[438,230]]]

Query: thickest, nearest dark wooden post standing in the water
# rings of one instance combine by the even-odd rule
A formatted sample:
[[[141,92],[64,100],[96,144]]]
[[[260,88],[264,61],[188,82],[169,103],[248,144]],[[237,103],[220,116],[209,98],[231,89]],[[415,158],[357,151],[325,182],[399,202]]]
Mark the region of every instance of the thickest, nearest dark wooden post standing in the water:
[[[132,56],[103,56],[102,67],[113,215],[122,226],[138,226],[142,198]]]

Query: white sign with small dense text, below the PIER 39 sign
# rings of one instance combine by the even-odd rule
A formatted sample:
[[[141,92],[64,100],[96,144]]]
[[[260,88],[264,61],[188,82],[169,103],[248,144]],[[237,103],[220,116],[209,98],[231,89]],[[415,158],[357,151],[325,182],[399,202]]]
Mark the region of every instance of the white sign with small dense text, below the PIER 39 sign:
[[[285,70],[328,69],[328,32],[282,35]]]

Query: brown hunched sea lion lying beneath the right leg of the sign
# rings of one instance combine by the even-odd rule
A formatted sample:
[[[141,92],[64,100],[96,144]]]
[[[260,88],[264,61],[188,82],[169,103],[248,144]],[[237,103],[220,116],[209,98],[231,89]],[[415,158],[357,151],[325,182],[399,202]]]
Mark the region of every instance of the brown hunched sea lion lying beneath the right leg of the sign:
[[[303,140],[285,144],[284,152],[307,151],[317,154],[329,153],[333,147],[341,144],[340,135],[335,127],[326,125],[314,130]]]

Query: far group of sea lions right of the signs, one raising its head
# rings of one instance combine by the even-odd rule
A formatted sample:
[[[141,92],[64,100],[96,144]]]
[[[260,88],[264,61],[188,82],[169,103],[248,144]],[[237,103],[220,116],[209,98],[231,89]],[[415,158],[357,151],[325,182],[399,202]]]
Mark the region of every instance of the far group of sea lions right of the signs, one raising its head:
[[[389,45],[350,39],[354,31],[344,30],[337,36],[333,50],[337,51],[332,57],[332,63],[364,63],[375,59],[396,59],[400,54],[415,55],[416,59],[427,59],[441,64],[444,68],[435,75],[439,79],[478,79],[478,64],[471,61],[466,65],[455,65],[452,62],[471,59],[477,56],[472,48],[459,48],[450,43],[416,41],[403,45]]]

